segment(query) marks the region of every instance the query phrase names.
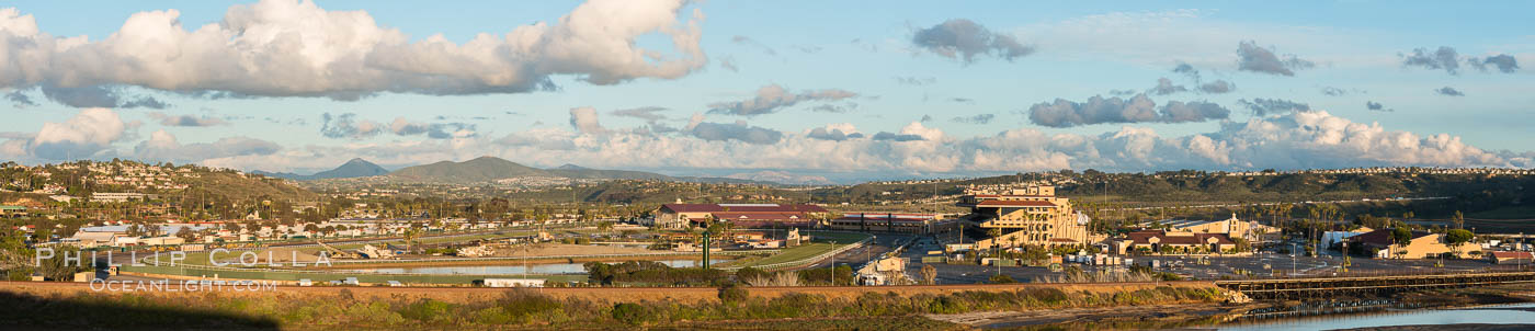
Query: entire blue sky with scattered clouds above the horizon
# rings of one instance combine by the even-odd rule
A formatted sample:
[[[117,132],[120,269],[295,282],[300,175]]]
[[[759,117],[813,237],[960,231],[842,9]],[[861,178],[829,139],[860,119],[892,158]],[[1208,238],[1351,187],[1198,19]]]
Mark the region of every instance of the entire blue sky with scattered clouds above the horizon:
[[[23,0],[0,5],[0,158],[835,181],[1535,167],[1532,9]]]

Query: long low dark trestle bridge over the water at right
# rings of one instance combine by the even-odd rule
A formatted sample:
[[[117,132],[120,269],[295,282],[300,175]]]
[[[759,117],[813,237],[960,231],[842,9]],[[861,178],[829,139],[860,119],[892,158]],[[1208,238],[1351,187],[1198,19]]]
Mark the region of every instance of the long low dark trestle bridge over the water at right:
[[[1319,299],[1337,294],[1383,294],[1434,288],[1535,283],[1535,271],[1217,280],[1216,287],[1253,299]]]

